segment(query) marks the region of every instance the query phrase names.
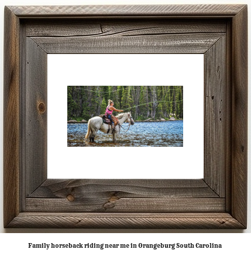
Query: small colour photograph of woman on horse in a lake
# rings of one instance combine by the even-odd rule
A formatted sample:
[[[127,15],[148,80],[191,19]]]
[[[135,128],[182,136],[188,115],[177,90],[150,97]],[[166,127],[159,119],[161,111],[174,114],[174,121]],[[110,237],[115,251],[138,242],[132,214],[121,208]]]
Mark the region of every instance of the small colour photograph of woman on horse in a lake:
[[[183,147],[183,86],[68,86],[67,120],[68,147]]]

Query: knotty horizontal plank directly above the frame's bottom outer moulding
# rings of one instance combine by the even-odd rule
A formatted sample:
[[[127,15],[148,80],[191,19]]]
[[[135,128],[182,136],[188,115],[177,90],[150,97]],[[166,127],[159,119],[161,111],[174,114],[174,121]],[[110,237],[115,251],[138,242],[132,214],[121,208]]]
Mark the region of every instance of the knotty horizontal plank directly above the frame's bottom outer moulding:
[[[131,198],[116,196],[64,199],[26,198],[27,212],[40,213],[224,213],[225,198]],[[73,199],[71,199],[73,198]]]

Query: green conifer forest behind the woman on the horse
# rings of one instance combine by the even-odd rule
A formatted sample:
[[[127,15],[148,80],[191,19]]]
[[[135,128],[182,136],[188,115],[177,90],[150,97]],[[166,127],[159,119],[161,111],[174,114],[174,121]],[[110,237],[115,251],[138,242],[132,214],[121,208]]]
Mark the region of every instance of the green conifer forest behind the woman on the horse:
[[[183,86],[67,86],[67,120],[105,114],[109,99],[134,120],[183,119]]]

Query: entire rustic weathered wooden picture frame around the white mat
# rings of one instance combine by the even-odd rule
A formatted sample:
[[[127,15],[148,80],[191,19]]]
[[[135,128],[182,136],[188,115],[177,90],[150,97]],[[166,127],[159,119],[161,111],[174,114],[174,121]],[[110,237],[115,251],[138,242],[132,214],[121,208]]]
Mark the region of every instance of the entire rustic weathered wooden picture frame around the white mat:
[[[5,228],[247,227],[247,6],[6,6]],[[204,178],[47,179],[47,54],[204,54]],[[192,167],[188,167],[188,171]]]

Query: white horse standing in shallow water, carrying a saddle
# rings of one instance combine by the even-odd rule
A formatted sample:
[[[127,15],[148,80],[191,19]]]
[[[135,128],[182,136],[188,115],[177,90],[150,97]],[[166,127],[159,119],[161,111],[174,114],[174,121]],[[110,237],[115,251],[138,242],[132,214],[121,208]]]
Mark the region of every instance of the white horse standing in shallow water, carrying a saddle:
[[[119,124],[121,124],[121,125],[124,122],[128,122],[132,125],[134,124],[134,121],[132,119],[132,115],[130,114],[130,112],[119,114],[118,116],[116,116],[116,118],[119,119]],[[88,130],[87,130],[87,134],[85,135],[85,139],[89,138],[90,142],[94,142],[95,136],[98,133],[98,130],[101,130],[101,132],[103,132],[103,133],[107,133],[108,129],[109,129],[108,124],[103,123],[103,120],[101,117],[99,117],[99,116],[92,117],[88,121]],[[113,134],[113,140],[112,140],[113,142],[116,142],[117,136],[120,131],[121,131],[121,126],[119,126],[119,125],[116,126],[116,130],[114,131],[114,133],[112,132],[112,129],[110,128],[109,134],[111,134],[111,133]]]

